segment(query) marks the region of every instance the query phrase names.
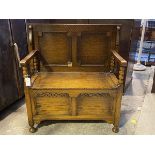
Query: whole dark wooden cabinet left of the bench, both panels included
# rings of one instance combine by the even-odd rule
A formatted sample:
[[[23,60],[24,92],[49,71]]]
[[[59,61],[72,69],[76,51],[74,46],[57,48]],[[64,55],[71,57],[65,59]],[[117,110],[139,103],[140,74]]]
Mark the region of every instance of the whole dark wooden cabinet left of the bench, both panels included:
[[[25,20],[0,19],[0,111],[24,96],[19,61],[26,54]]]

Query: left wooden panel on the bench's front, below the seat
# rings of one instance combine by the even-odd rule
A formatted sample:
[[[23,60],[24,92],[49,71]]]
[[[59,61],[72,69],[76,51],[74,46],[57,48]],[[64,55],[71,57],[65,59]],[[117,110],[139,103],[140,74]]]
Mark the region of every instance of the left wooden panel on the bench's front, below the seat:
[[[35,99],[35,110],[37,115],[70,115],[70,98],[67,94],[39,96]]]

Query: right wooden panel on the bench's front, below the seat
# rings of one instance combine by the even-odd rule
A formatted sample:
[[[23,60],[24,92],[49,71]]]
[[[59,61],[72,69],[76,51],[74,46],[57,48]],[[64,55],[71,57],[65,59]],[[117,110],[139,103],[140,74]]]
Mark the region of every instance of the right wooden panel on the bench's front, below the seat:
[[[109,94],[82,94],[77,100],[78,115],[112,115],[114,100]]]

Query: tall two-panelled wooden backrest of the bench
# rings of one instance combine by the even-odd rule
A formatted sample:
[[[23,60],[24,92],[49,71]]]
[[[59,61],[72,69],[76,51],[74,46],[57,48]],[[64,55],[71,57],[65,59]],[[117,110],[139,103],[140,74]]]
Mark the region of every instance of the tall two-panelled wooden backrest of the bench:
[[[109,71],[109,49],[115,48],[116,27],[114,24],[28,24],[28,32],[33,34],[32,45],[28,40],[29,51],[40,50],[41,71]]]

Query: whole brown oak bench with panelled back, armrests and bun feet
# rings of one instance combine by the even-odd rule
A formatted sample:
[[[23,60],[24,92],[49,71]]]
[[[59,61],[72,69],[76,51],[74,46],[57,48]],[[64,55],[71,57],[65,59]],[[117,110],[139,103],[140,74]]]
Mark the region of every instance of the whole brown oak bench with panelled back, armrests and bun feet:
[[[103,120],[119,131],[121,25],[28,24],[21,60],[30,131],[43,120]]]

